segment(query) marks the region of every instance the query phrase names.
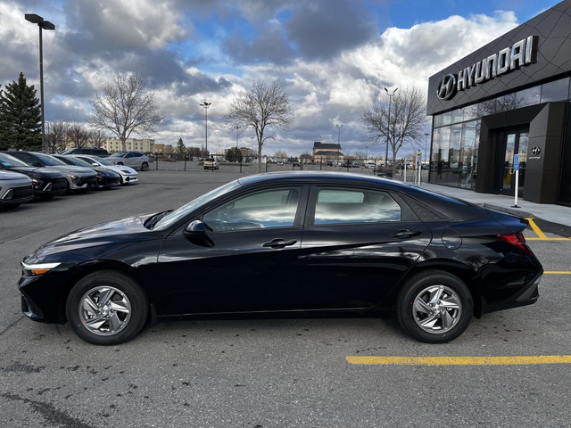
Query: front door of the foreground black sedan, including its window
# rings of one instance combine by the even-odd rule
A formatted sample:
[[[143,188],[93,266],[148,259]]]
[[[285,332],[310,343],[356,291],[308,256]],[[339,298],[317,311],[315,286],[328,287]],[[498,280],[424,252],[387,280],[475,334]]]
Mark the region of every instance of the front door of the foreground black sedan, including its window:
[[[202,213],[203,235],[178,230],[159,254],[163,314],[287,310],[309,188],[252,189]],[[189,219],[190,220],[190,219]]]

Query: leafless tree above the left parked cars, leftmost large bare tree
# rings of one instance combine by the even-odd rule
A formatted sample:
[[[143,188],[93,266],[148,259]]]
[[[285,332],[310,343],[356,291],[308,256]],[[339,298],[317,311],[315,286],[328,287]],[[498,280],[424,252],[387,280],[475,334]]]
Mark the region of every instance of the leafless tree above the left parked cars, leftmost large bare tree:
[[[155,133],[162,119],[154,94],[146,90],[147,82],[140,74],[115,74],[112,83],[90,100],[93,111],[87,121],[95,128],[108,130],[125,141],[135,133],[140,136]]]

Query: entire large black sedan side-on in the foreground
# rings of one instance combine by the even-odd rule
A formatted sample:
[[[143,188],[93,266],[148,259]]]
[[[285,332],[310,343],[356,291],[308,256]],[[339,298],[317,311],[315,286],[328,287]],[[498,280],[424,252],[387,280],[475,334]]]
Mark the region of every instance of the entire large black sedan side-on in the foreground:
[[[23,259],[26,316],[87,342],[159,317],[394,309],[422,342],[538,299],[525,220],[345,173],[240,178],[178,210],[90,226]]]

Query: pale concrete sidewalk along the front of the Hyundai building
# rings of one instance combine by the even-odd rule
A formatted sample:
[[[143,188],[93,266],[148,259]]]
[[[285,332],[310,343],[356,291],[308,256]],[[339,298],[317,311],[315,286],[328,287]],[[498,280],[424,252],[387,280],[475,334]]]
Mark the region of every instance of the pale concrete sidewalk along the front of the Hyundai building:
[[[410,183],[410,177],[407,181]],[[397,176],[397,180],[402,181]],[[421,183],[420,187],[437,193],[447,194],[464,201],[482,205],[491,210],[508,212],[520,218],[541,218],[542,220],[571,227],[571,207],[548,203],[535,203],[517,199],[517,205],[521,208],[513,208],[514,197],[503,194],[476,193],[472,190],[449,187],[447,185],[433,185],[431,183]]]

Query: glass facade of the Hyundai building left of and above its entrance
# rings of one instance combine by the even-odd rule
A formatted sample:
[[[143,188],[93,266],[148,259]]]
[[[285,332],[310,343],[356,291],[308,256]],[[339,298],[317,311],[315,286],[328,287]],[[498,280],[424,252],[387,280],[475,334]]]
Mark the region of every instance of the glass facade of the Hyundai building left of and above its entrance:
[[[434,115],[429,181],[474,189],[480,144],[480,119],[528,105],[566,101],[571,98],[569,80],[570,78],[560,78],[513,94]]]

